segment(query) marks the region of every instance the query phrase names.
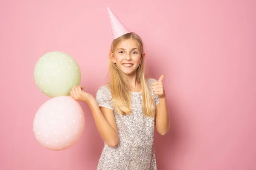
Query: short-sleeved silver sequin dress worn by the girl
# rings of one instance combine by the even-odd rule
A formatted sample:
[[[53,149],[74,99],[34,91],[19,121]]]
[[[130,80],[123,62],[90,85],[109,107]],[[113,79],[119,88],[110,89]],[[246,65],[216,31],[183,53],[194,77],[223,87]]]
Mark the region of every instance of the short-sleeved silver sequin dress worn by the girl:
[[[151,85],[155,79],[147,79],[153,94],[155,105],[159,98],[152,92]],[[154,152],[154,116],[147,117],[142,111],[142,91],[131,93],[132,113],[121,115],[113,108],[111,92],[103,85],[96,93],[99,106],[110,108],[114,112],[119,133],[119,143],[110,147],[104,143],[97,170],[157,170]]]

